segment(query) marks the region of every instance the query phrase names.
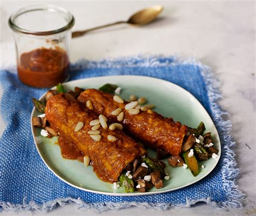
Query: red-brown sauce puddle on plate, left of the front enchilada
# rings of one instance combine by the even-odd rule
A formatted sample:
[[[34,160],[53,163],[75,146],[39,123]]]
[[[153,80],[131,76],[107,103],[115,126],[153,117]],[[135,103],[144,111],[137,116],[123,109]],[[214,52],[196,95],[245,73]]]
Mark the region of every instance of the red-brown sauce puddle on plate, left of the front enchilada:
[[[77,159],[80,162],[84,161],[84,152],[80,151],[73,143],[67,142],[62,136],[59,137],[58,145],[62,152],[62,157],[66,159]]]

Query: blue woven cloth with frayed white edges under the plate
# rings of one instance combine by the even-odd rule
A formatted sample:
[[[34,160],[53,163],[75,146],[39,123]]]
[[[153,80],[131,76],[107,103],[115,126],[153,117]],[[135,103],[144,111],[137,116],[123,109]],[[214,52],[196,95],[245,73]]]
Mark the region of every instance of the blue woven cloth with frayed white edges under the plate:
[[[70,80],[106,75],[145,75],[176,83],[191,92],[211,115],[220,134],[223,154],[217,167],[203,180],[177,191],[151,196],[113,197],[84,192],[65,184],[46,168],[33,143],[30,129],[30,114],[33,108],[31,97],[38,98],[46,89],[23,85],[16,73],[0,72],[4,93],[1,101],[2,117],[6,129],[0,140],[0,206],[5,209],[17,206],[42,209],[43,203],[55,206],[52,200],[60,198],[63,203],[78,203],[80,206],[102,208],[108,203],[111,208],[130,205],[189,206],[197,201],[206,201],[218,207],[240,206],[242,195],[233,179],[238,176],[230,147],[234,144],[229,132],[230,122],[224,122],[224,114],[215,100],[219,97],[209,68],[197,62],[179,61],[175,58],[123,59],[111,61],[79,61],[72,65]],[[2,127],[2,126],[1,126]],[[231,162],[231,160],[233,160]],[[228,168],[230,164],[230,170]],[[231,197],[231,194],[233,196]],[[26,198],[25,200],[23,200]],[[64,198],[73,198],[75,201]],[[32,205],[38,204],[37,207]],[[9,202],[9,203],[8,203]],[[135,202],[135,203],[134,203]],[[114,203],[121,205],[114,205]],[[26,205],[31,204],[31,205]],[[125,205],[124,205],[125,204]],[[7,207],[6,207],[7,206]],[[11,207],[10,207],[11,206]],[[32,206],[32,207],[31,207]],[[17,210],[17,209],[16,209]]]

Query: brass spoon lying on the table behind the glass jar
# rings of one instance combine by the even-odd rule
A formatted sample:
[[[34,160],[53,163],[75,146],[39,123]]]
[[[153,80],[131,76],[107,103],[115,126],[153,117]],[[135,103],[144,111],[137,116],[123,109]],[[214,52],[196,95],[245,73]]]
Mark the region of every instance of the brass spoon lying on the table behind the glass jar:
[[[72,32],[72,38],[83,36],[85,33],[89,32],[89,31],[93,31],[96,29],[101,29],[104,27],[117,25],[117,24],[121,24],[121,23],[127,23],[127,24],[131,24],[131,25],[145,25],[145,24],[151,23],[154,19],[156,19],[157,16],[159,15],[159,13],[163,9],[164,9],[163,6],[160,6],[160,5],[153,6],[152,8],[147,8],[147,9],[138,11],[137,13],[134,13],[127,21],[118,21],[115,23],[110,23],[110,24],[101,25],[98,27],[93,27],[92,29],[87,29],[84,31]]]

